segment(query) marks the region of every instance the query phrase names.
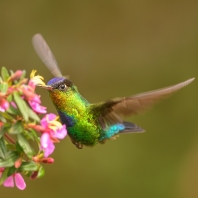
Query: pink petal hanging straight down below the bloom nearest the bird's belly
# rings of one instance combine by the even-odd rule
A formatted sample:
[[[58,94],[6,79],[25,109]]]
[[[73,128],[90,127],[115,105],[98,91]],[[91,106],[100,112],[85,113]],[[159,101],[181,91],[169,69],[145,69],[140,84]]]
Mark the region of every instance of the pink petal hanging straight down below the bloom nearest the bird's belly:
[[[41,136],[41,150],[44,151],[44,157],[48,157],[54,152],[55,146],[48,133],[43,133]]]

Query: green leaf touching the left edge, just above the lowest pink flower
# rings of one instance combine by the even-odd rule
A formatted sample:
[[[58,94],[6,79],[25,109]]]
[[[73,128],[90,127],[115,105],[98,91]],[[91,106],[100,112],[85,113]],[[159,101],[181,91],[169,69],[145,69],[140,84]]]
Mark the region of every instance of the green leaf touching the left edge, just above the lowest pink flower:
[[[14,162],[19,158],[19,154],[16,151],[7,152],[6,158],[0,160],[0,167],[14,166]]]

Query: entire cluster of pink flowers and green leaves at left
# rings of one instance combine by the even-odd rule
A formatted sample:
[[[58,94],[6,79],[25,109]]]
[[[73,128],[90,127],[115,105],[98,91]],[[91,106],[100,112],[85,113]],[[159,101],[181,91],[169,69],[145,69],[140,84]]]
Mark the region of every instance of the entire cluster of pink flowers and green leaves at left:
[[[16,185],[20,190],[26,188],[22,175],[31,179],[44,175],[42,163],[54,162],[49,156],[55,143],[67,135],[66,126],[57,121],[55,114],[47,114],[46,107],[41,105],[35,88],[45,84],[35,73],[28,80],[25,71],[9,73],[5,67],[1,69],[0,185]]]

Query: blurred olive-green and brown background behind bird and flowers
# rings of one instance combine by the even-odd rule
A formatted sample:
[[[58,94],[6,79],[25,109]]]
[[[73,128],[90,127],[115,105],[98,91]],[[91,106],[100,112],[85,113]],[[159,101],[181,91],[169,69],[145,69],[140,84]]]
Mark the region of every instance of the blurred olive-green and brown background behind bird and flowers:
[[[35,54],[40,32],[90,102],[179,83],[198,74],[197,0],[0,1],[0,65],[52,76]],[[0,197],[198,197],[198,82],[137,117],[146,129],[94,148],[66,138],[45,177]],[[49,112],[47,92],[38,90]]]

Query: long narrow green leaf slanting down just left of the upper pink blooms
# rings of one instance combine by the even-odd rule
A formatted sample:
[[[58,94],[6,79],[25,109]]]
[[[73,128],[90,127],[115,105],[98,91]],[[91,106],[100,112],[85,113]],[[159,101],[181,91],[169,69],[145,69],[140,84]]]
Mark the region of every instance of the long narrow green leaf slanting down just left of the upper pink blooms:
[[[25,119],[25,121],[28,121],[28,106],[26,104],[26,102],[20,97],[20,95],[17,92],[14,92],[14,100],[23,116],[23,118]]]

